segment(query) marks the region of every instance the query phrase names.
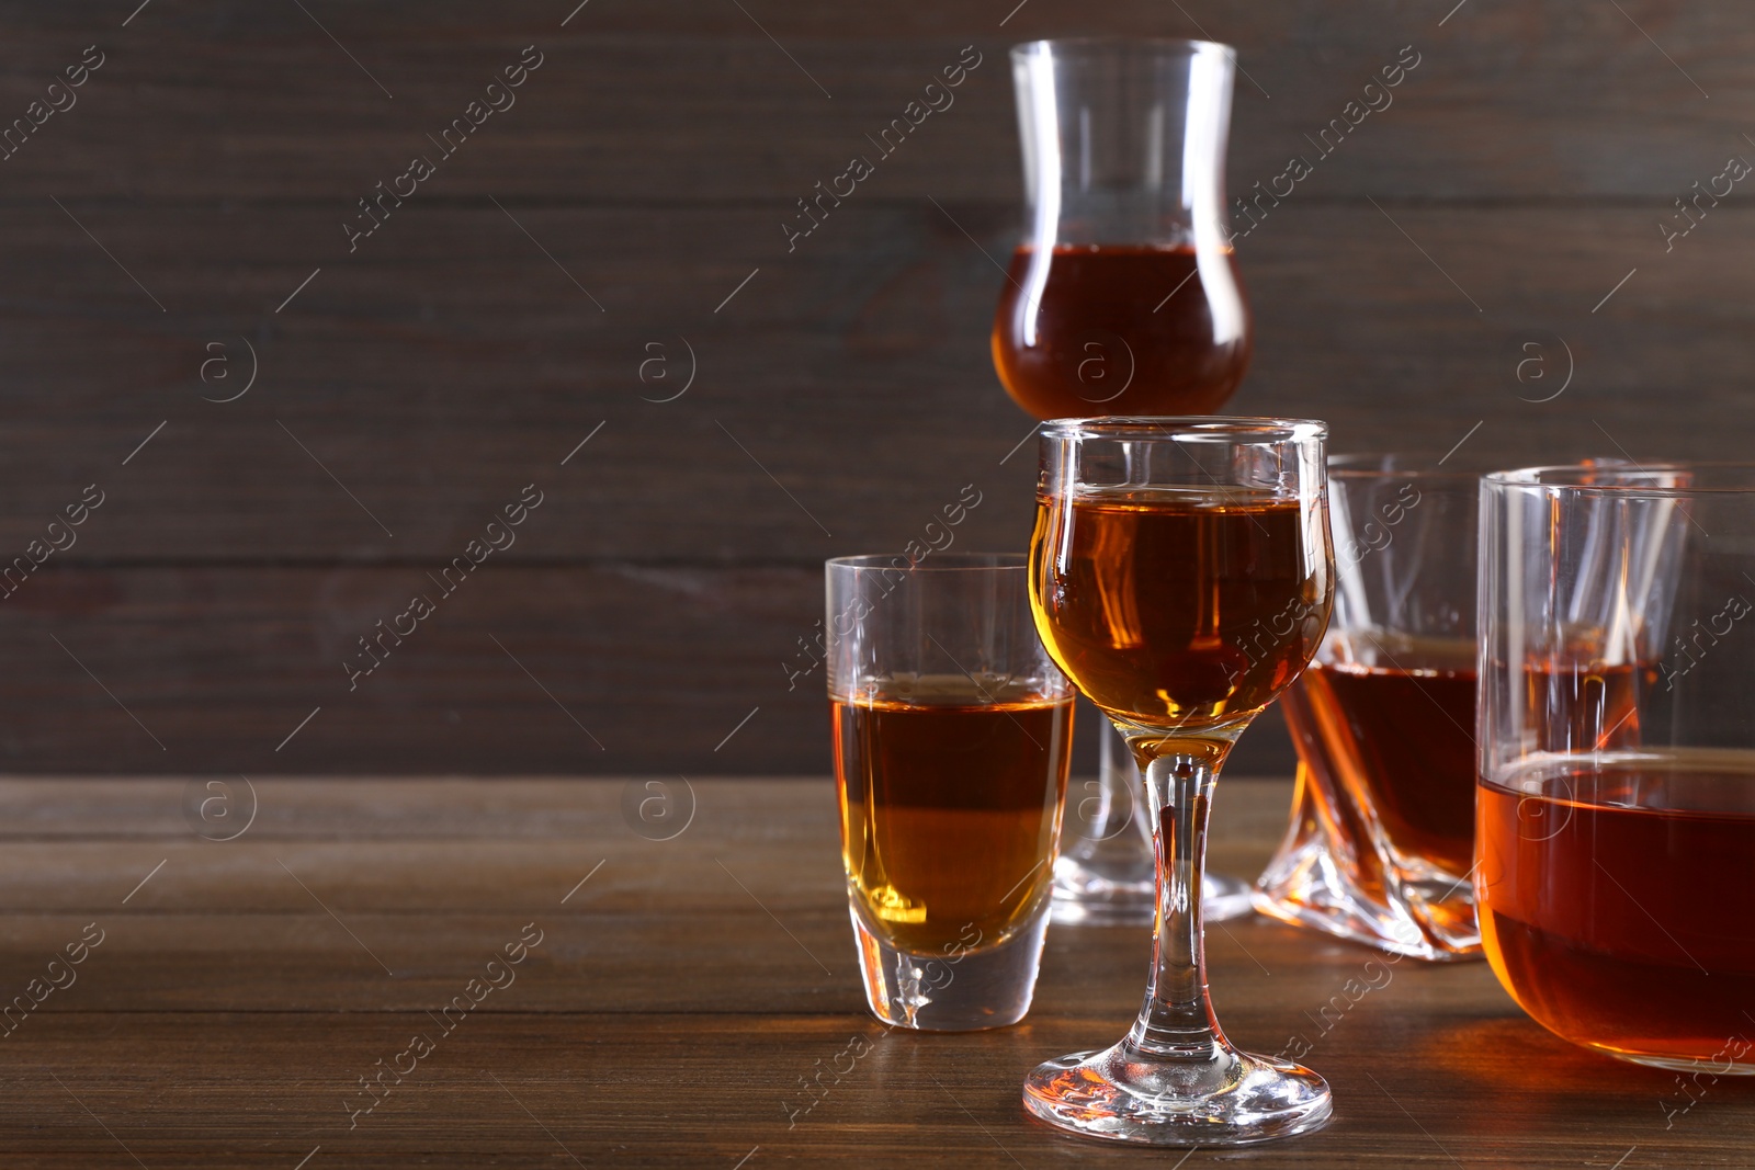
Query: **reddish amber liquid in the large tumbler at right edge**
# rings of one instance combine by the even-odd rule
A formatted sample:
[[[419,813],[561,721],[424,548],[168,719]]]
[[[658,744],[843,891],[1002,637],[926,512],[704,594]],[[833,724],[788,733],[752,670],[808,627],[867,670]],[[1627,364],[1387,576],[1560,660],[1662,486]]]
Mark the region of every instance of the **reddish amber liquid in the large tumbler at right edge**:
[[[1627,754],[1513,784],[1481,784],[1476,889],[1486,956],[1523,1010],[1609,1052],[1746,1058],[1755,758]]]

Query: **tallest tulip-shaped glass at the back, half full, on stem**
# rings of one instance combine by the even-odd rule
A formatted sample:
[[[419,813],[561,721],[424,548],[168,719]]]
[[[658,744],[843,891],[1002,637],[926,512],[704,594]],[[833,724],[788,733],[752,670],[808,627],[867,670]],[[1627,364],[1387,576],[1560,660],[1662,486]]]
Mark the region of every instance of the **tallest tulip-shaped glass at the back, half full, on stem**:
[[[1039,419],[1220,409],[1253,323],[1225,228],[1236,51],[1211,40],[1034,40],[1011,51],[1025,225],[993,314],[993,367]],[[1100,737],[1072,802],[1055,921],[1153,916],[1139,774]],[[1214,917],[1250,912],[1207,879]],[[1223,895],[1223,896],[1216,896]]]

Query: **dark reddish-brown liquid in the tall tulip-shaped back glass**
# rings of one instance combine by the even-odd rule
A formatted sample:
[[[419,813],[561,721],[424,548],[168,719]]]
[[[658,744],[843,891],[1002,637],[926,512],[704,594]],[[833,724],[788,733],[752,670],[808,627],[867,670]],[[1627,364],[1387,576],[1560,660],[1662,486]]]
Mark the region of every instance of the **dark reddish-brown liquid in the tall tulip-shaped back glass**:
[[[1020,247],[993,316],[993,367],[1039,419],[1211,414],[1250,351],[1230,249],[1202,267],[1192,247]]]

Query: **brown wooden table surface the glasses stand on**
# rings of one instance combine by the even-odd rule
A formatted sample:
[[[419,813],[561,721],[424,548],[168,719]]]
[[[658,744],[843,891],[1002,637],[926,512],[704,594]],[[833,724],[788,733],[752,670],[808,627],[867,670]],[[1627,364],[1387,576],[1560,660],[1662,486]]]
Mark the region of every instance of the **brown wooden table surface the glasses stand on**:
[[[1485,963],[1367,968],[1265,919],[1211,931],[1220,1017],[1258,1051],[1304,1037],[1329,1128],[1186,1156],[1062,1137],[1020,1081],[1121,1035],[1144,931],[1053,930],[1016,1028],[888,1031],[821,779],[232,784],[0,782],[0,1002],[33,1003],[0,1033],[0,1166],[1755,1163],[1755,1086],[1687,1095],[1548,1035]],[[1255,872],[1288,791],[1220,784],[1218,868]],[[679,835],[634,831],[658,835],[623,812],[648,796]],[[507,944],[523,961],[490,968]],[[1355,979],[1379,986],[1350,1002]]]

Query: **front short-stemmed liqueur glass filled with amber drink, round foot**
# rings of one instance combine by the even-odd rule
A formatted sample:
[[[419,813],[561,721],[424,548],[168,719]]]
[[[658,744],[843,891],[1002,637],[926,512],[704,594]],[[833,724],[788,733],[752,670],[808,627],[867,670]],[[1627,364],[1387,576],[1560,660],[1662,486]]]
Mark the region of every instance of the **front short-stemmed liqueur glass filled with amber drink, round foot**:
[[[1051,1124],[1211,1147],[1290,1137],[1329,1117],[1322,1077],[1225,1038],[1207,1002],[1200,916],[1218,770],[1329,624],[1325,433],[1311,421],[1225,417],[1044,428],[1035,626],[1144,772],[1158,893],[1134,1028],[1023,1082],[1025,1107]]]

